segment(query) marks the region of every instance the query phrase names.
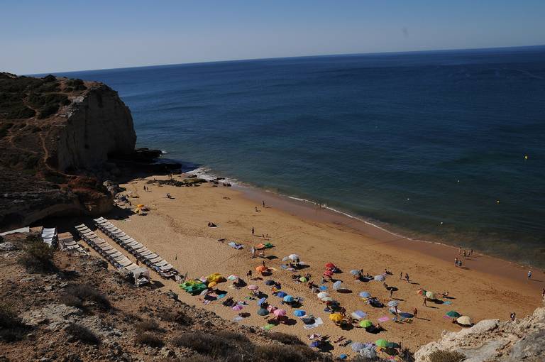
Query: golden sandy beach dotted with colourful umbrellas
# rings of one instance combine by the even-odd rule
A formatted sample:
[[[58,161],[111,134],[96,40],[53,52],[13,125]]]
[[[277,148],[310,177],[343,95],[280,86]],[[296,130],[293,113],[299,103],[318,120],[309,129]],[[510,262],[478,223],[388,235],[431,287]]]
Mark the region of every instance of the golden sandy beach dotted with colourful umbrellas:
[[[163,256],[180,273],[187,273],[189,278],[216,272],[224,276],[240,275],[246,282],[258,285],[260,290],[268,294],[271,305],[280,307],[281,299],[273,296],[270,287],[264,284],[265,280],[273,279],[282,283],[283,291],[295,297],[303,297],[299,309],[321,317],[324,321],[323,325],[306,330],[304,324],[293,317],[292,308],[283,306],[296,322],[293,325],[280,324],[272,328],[274,331],[296,334],[303,340],[307,340],[305,336],[310,333],[329,335],[332,340],[345,336],[346,339],[359,342],[384,338],[402,342],[414,351],[418,346],[438,339],[441,331],[462,328],[444,317],[449,310],[468,315],[474,322],[482,319],[505,320],[511,312],[516,312],[517,317],[531,314],[541,303],[541,289],[545,287],[542,270],[533,270],[532,280],[528,280],[526,268],[478,253],[463,258],[463,268],[458,268],[453,263],[454,258],[461,258],[458,248],[409,241],[346,216],[290,202],[272,193],[221,185],[214,187],[211,183],[200,187],[145,183],[153,178],[160,180],[166,177],[147,177],[147,180],[136,179],[121,185],[131,195],[138,196],[131,199],[133,204],[145,204],[150,208],[146,216],[105,215],[106,218]],[[181,180],[178,175],[175,178]],[[144,185],[148,186],[149,192],[143,190]],[[167,192],[172,195],[172,199],[165,196]],[[263,208],[262,200],[267,207]],[[85,221],[92,226],[91,219]],[[208,227],[208,221],[219,227]],[[252,228],[255,228],[255,236],[252,236]],[[104,234],[100,235],[109,240]],[[268,241],[275,247],[265,251],[265,257],[268,258],[251,258],[251,246],[265,242],[262,235],[268,235]],[[218,241],[220,238],[226,241]],[[109,241],[114,244],[114,241]],[[227,245],[228,241],[242,243],[244,248],[235,250]],[[341,302],[348,314],[363,310],[368,313],[367,319],[374,323],[380,317],[390,317],[387,322],[381,323],[386,330],[375,335],[365,329],[342,330],[337,327],[328,319],[329,313],[324,312],[325,306],[307,285],[294,283],[292,272],[280,268],[282,258],[291,253],[297,253],[302,262],[309,265],[309,268],[298,273],[310,273],[318,285],[321,284],[324,265],[335,263],[343,273],[335,274],[334,278],[342,280],[343,287],[351,292],[335,292],[331,282],[325,284],[327,292]],[[262,260],[272,268],[272,275],[249,282],[246,272],[253,270],[255,275],[255,267]],[[392,322],[392,314],[387,307],[371,307],[358,297],[360,292],[368,291],[382,302],[388,302],[390,293],[382,282],[363,283],[354,280],[348,273],[352,269],[363,269],[364,273],[378,275],[385,268],[392,272],[385,283],[398,288],[393,298],[399,302],[400,311],[412,312],[415,307],[418,309],[418,318],[413,319],[412,323]],[[400,273],[408,273],[409,282],[400,280]],[[153,278],[159,279],[155,274]],[[175,290],[180,300],[188,304],[210,309],[226,319],[233,319],[238,314],[221,305],[221,301],[204,305],[201,297],[188,295],[174,281],[161,282],[165,283],[165,290]],[[249,312],[251,315],[241,320],[241,324],[255,327],[266,324],[264,317],[255,313],[255,300],[245,299],[249,290],[233,289],[231,282],[221,283],[219,288],[227,291],[228,297],[248,302],[248,306],[241,312]],[[428,302],[427,306],[423,306],[422,297],[417,295],[419,288],[437,293],[448,291],[450,298],[443,301],[451,302],[451,305]],[[337,346],[333,351],[335,354],[349,352],[349,347]]]

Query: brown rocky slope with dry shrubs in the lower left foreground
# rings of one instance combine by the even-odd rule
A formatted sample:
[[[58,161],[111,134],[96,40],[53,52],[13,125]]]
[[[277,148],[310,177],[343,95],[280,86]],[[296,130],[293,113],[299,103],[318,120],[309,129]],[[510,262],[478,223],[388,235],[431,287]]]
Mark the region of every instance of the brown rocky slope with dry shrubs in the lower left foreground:
[[[0,361],[332,361],[35,239],[0,243]]]

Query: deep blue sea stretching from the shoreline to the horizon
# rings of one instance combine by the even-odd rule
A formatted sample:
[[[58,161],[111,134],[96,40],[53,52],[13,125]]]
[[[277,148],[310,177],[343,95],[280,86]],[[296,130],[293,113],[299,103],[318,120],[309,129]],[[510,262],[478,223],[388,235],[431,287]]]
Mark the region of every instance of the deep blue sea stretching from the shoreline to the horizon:
[[[138,146],[545,267],[545,47],[61,75],[119,91]]]

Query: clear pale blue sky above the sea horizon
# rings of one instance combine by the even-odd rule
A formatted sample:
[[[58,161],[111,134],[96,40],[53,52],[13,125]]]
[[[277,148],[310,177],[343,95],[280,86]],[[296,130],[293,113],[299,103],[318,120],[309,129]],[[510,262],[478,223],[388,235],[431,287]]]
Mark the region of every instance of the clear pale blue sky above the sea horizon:
[[[0,19],[17,74],[545,44],[545,0],[4,0]]]

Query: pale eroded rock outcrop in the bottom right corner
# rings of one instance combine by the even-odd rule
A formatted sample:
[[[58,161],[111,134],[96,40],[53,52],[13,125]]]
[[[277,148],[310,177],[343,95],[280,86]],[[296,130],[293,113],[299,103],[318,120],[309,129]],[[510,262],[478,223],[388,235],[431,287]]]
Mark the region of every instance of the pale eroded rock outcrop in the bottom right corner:
[[[458,332],[444,332],[414,357],[417,362],[429,362],[429,355],[437,350],[463,353],[466,362],[545,361],[545,307],[514,322],[489,319]]]

